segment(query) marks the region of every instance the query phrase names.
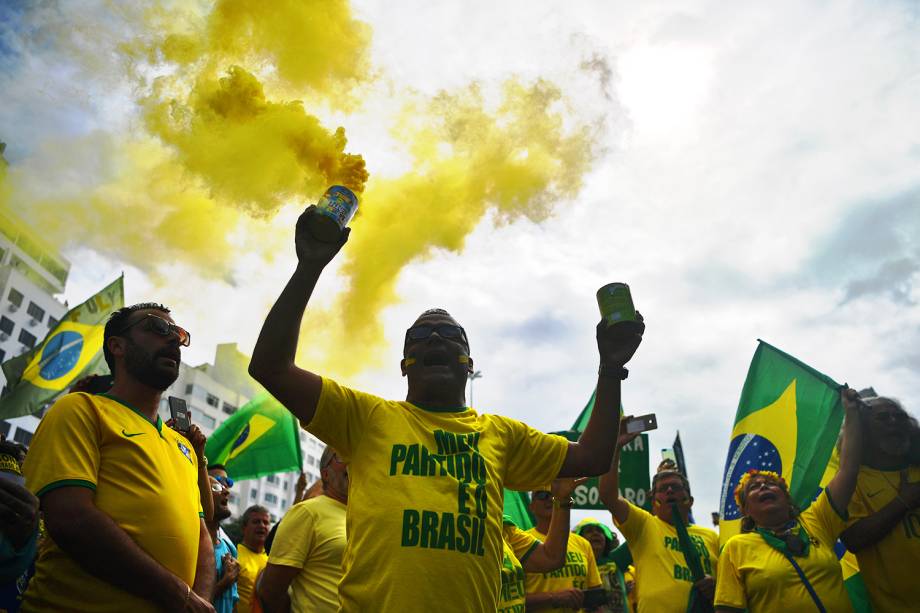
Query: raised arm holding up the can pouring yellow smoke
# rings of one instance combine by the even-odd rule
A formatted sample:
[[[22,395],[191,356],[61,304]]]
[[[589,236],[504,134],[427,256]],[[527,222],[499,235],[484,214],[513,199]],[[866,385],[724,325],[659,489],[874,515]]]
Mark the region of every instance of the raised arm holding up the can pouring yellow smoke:
[[[346,228],[336,243],[314,238],[306,224],[307,213],[313,208],[308,208],[297,220],[294,236],[297,268],[265,318],[249,363],[249,374],[303,423],[313,419],[322,379],[294,364],[300,325],[320,273],[349,234]]]

